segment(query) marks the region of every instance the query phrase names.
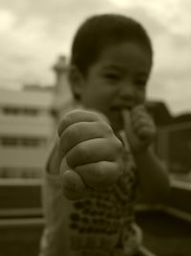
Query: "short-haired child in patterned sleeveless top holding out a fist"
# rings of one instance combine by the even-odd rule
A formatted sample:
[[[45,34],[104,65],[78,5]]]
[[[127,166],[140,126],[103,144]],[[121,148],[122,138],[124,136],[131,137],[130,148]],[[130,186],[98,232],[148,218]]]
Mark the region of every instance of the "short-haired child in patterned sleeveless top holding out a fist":
[[[137,194],[164,198],[169,186],[144,106],[152,63],[132,18],[98,14],[79,27],[69,70],[77,109],[61,116],[45,174],[41,256],[140,255]]]

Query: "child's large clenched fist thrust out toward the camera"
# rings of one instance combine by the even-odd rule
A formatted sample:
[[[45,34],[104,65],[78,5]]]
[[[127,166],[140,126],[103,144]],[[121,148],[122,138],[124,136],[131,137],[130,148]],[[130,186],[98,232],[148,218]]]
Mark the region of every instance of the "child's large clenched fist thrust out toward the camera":
[[[58,135],[66,198],[85,198],[90,189],[108,188],[122,174],[122,144],[101,115],[85,110],[69,112]]]

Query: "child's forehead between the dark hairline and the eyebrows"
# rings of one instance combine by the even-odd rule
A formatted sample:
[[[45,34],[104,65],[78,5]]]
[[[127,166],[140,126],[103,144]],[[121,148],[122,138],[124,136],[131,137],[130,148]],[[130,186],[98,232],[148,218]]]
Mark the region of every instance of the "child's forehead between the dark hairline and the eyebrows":
[[[104,48],[96,64],[103,68],[128,69],[149,74],[152,59],[149,52],[138,43],[122,42]]]

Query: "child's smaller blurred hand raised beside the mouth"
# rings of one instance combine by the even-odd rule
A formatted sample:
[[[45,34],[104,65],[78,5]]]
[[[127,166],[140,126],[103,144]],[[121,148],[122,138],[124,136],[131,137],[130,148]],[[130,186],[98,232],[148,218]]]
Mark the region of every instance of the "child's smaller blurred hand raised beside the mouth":
[[[133,152],[145,151],[153,143],[156,127],[144,105],[122,111],[125,133]]]

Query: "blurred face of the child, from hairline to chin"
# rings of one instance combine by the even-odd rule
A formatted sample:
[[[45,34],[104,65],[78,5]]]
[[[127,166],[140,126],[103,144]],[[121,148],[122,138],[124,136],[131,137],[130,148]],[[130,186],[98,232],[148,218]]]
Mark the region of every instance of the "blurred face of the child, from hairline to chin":
[[[82,78],[81,104],[104,113],[115,130],[122,128],[121,110],[145,101],[150,70],[150,56],[140,45],[110,46]]]

